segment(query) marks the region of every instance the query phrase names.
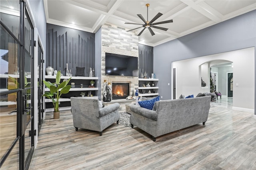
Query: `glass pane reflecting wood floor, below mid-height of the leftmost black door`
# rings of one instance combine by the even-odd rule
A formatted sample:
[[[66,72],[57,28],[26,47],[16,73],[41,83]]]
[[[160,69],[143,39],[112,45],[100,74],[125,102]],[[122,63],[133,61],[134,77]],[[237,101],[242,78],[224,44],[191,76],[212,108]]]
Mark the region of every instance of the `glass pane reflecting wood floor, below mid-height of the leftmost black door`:
[[[17,134],[17,93],[0,96],[0,157],[11,146]]]

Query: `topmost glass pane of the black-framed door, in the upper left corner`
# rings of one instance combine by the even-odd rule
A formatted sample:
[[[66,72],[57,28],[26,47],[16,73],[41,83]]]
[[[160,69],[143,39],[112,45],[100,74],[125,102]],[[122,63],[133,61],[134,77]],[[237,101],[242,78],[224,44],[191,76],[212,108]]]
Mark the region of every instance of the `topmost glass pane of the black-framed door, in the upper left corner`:
[[[20,39],[20,4],[19,0],[1,0],[1,20]]]

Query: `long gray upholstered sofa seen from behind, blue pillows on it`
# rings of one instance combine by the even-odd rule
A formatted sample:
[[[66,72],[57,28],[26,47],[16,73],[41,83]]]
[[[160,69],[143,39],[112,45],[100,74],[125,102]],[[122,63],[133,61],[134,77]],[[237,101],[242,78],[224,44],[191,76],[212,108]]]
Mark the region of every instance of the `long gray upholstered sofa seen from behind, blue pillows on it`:
[[[203,123],[208,119],[211,96],[162,100],[155,102],[156,110],[132,105],[130,123],[156,137]]]

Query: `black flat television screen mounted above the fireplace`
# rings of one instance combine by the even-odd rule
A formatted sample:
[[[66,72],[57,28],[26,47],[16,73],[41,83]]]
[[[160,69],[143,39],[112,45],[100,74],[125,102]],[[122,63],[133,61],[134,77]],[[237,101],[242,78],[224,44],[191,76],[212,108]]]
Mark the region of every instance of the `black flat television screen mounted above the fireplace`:
[[[105,74],[138,77],[138,57],[106,53]]]

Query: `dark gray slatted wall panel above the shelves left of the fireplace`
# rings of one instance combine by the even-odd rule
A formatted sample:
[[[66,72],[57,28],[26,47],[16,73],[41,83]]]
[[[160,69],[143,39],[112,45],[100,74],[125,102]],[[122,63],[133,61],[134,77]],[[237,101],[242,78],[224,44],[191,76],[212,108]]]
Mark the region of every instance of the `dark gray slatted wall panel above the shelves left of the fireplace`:
[[[95,34],[62,27],[46,25],[46,67],[65,73],[68,70],[76,74],[76,67],[85,67],[85,76],[90,68],[95,68]]]

